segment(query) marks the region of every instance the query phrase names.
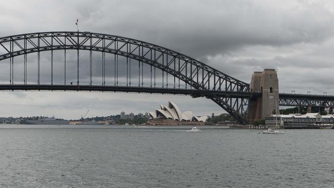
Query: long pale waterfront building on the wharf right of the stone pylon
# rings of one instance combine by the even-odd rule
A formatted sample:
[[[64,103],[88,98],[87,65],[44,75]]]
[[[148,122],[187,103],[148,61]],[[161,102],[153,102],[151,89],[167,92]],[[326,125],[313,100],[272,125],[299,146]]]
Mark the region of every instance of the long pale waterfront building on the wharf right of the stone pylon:
[[[331,128],[334,126],[334,116],[322,116],[319,113],[271,115],[266,118],[268,128]]]

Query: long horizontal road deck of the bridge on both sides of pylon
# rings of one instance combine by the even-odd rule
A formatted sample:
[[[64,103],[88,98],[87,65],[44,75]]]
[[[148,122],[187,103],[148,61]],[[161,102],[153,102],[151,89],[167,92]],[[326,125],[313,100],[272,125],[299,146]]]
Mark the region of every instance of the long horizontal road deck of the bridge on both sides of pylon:
[[[0,90],[49,90],[49,91],[101,91],[101,92],[129,92],[150,93],[169,95],[188,95],[197,97],[221,97],[249,99],[261,96],[258,92],[224,91],[224,90],[196,90],[184,88],[161,88],[161,87],[138,87],[138,86],[115,86],[115,85],[64,85],[64,84],[2,84]],[[280,93],[280,106],[320,106],[334,107],[334,96],[332,95],[304,95]]]

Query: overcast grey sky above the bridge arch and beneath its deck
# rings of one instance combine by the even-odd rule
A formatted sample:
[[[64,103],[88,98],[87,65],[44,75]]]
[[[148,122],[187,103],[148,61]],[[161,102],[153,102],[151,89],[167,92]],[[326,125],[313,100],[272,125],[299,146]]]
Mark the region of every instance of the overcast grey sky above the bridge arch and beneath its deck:
[[[0,1],[0,37],[79,29],[115,34],[189,55],[239,80],[275,68],[280,92],[334,95],[332,1]],[[31,60],[32,61],[32,60]],[[0,62],[1,63],[1,62]],[[3,69],[3,67],[0,67]],[[1,77],[1,76],[0,76]],[[221,114],[208,99],[97,92],[0,92],[0,117],[78,119],[145,112],[175,102]]]

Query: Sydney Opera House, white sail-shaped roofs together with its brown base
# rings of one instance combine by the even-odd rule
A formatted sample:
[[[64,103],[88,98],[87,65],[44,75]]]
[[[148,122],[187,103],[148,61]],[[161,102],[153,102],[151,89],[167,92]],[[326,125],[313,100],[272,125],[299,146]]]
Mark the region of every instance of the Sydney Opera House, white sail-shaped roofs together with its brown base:
[[[180,108],[169,101],[168,106],[160,104],[160,109],[149,112],[150,119],[147,124],[150,125],[205,125],[207,116],[193,117],[192,111],[181,112]]]

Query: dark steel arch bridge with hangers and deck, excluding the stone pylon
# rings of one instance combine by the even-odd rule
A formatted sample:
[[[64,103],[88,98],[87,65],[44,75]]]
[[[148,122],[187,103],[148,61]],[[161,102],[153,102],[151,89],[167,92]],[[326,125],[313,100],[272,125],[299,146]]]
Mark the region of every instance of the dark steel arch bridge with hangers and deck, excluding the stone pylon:
[[[0,37],[0,90],[162,93],[205,97],[240,124],[262,92],[187,55],[127,37],[39,32]],[[280,106],[334,107],[334,96],[279,93]]]

